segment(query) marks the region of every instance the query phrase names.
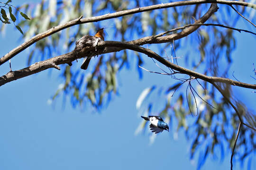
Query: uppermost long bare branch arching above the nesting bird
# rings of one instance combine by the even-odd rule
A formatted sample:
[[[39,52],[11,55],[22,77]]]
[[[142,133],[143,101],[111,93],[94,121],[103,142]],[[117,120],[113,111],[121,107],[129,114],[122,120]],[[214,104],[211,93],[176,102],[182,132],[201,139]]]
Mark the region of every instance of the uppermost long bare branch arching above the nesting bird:
[[[32,45],[33,43],[46,38],[47,36],[54,34],[56,32],[59,32],[65,28],[68,28],[70,26],[78,25],[78,24],[85,24],[85,23],[90,23],[90,22],[98,22],[101,20],[106,20],[106,19],[111,19],[111,18],[116,18],[116,17],[121,17],[121,16],[126,16],[126,15],[131,15],[135,13],[140,13],[140,12],[145,12],[145,11],[150,11],[150,10],[155,10],[155,9],[161,9],[161,8],[171,8],[171,7],[177,7],[177,6],[184,6],[184,5],[195,5],[195,4],[203,4],[203,3],[219,3],[219,4],[226,4],[226,5],[240,5],[240,6],[246,6],[250,8],[256,9],[256,4],[252,3],[247,3],[247,2],[242,2],[242,1],[236,1],[236,0],[186,0],[186,1],[178,1],[178,2],[171,2],[171,3],[165,3],[165,4],[158,4],[158,5],[152,5],[148,7],[142,7],[142,8],[134,8],[134,9],[129,9],[129,10],[124,10],[124,11],[119,11],[115,12],[112,14],[106,14],[98,17],[90,17],[90,18],[84,18],[81,19],[81,17],[74,19],[72,21],[69,21],[63,25],[55,26],[41,34],[37,34],[34,37],[32,37],[30,40],[27,42],[23,42],[21,45],[16,47],[15,49],[11,50],[9,53],[4,55],[3,57],[0,58],[0,65],[17,55],[19,52],[25,50],[27,47]],[[203,23],[203,22],[201,22]],[[165,37],[169,39],[170,37]],[[161,43],[161,42],[158,42]]]

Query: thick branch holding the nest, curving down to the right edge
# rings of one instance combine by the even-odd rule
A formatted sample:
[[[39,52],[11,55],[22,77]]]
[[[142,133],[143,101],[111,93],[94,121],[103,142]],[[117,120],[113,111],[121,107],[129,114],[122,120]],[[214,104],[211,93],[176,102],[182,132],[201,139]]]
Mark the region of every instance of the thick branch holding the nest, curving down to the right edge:
[[[115,41],[105,41],[104,42],[104,41],[102,41],[102,42],[98,43],[97,48],[102,49],[104,47],[110,47],[110,46],[119,47],[119,48],[122,48],[122,49],[129,49],[129,50],[144,53],[148,57],[156,59],[157,61],[159,61],[160,63],[164,64],[165,66],[167,66],[169,68],[172,68],[176,71],[179,71],[182,74],[186,74],[186,75],[189,75],[189,76],[200,78],[200,79],[205,80],[209,83],[221,82],[221,83],[226,83],[226,84],[229,84],[229,85],[236,85],[236,86],[240,86],[240,87],[256,89],[256,85],[242,83],[242,82],[234,81],[234,80],[231,80],[231,79],[228,79],[228,78],[206,76],[206,75],[203,75],[201,73],[197,73],[193,70],[180,67],[178,65],[175,65],[174,63],[171,63],[171,62],[165,60],[164,58],[162,58],[161,56],[156,54],[154,51],[151,51],[149,49],[146,49],[146,48],[143,48],[143,47],[140,47],[140,46],[137,46],[137,45],[132,45],[132,44],[129,44],[127,42],[115,42]],[[92,51],[92,50],[95,50],[95,47],[90,46],[84,52],[86,53],[86,52],[89,52],[89,51]],[[75,59],[82,58],[82,56],[84,56],[84,54],[80,54],[79,56],[77,56],[77,54],[72,51],[72,52],[69,52],[67,54],[63,54],[63,55],[60,55],[60,56],[57,56],[57,57],[54,57],[54,58],[51,58],[51,59],[47,59],[45,61],[37,62],[37,63],[27,67],[27,68],[23,68],[23,69],[18,70],[18,71],[9,72],[6,75],[1,76],[0,77],[0,85],[4,85],[4,84],[6,84],[10,81],[16,80],[16,79],[21,78],[21,77],[32,75],[34,73],[45,70],[47,68],[53,68],[54,65],[52,63],[54,63],[55,65],[60,65],[60,64],[64,64],[64,63],[71,63]],[[49,63],[51,63],[51,64],[49,64]]]

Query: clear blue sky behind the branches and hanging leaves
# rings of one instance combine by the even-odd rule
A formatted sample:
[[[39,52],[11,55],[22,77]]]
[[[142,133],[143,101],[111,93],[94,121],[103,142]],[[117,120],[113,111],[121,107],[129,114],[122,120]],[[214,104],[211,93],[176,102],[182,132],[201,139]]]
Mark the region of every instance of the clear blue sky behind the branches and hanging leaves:
[[[248,29],[244,21],[239,23],[241,28]],[[236,36],[238,44],[232,55],[230,75],[235,71],[239,80],[255,83],[250,75],[253,75],[252,63],[256,63],[256,38],[246,33],[236,33]],[[7,27],[0,39],[0,56],[21,44],[20,33],[13,26]],[[27,55],[28,52],[23,51],[12,59],[13,70],[27,66]],[[145,67],[152,65],[151,59],[145,57],[144,61]],[[72,67],[80,66],[74,63]],[[189,159],[190,143],[185,140],[183,131],[177,140],[171,132],[164,131],[151,145],[149,133],[134,135],[141,121],[136,110],[139,94],[155,82],[172,82],[165,76],[147,72],[139,80],[136,70],[133,66],[131,70],[120,72],[119,96],[114,96],[100,113],[91,108],[73,109],[69,100],[62,109],[61,98],[54,107],[48,105],[47,100],[63,83],[56,69],[1,86],[0,170],[196,170],[197,159],[194,163]],[[8,71],[9,63],[0,66],[1,75]],[[236,96],[256,109],[256,94],[251,93],[252,90],[234,89]],[[230,155],[226,152],[223,161],[210,156],[202,170],[229,169]],[[254,156],[251,169],[255,167]],[[239,169],[239,164],[235,163],[235,170]]]

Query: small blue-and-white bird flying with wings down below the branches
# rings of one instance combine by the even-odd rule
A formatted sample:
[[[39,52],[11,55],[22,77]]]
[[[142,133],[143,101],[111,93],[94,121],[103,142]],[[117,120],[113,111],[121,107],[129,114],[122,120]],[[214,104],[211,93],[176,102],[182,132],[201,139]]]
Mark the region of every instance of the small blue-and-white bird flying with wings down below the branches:
[[[143,119],[150,121],[150,130],[155,134],[159,132],[163,132],[164,130],[167,130],[169,132],[169,127],[167,123],[164,122],[164,120],[160,116],[148,116],[144,117],[141,116]]]

